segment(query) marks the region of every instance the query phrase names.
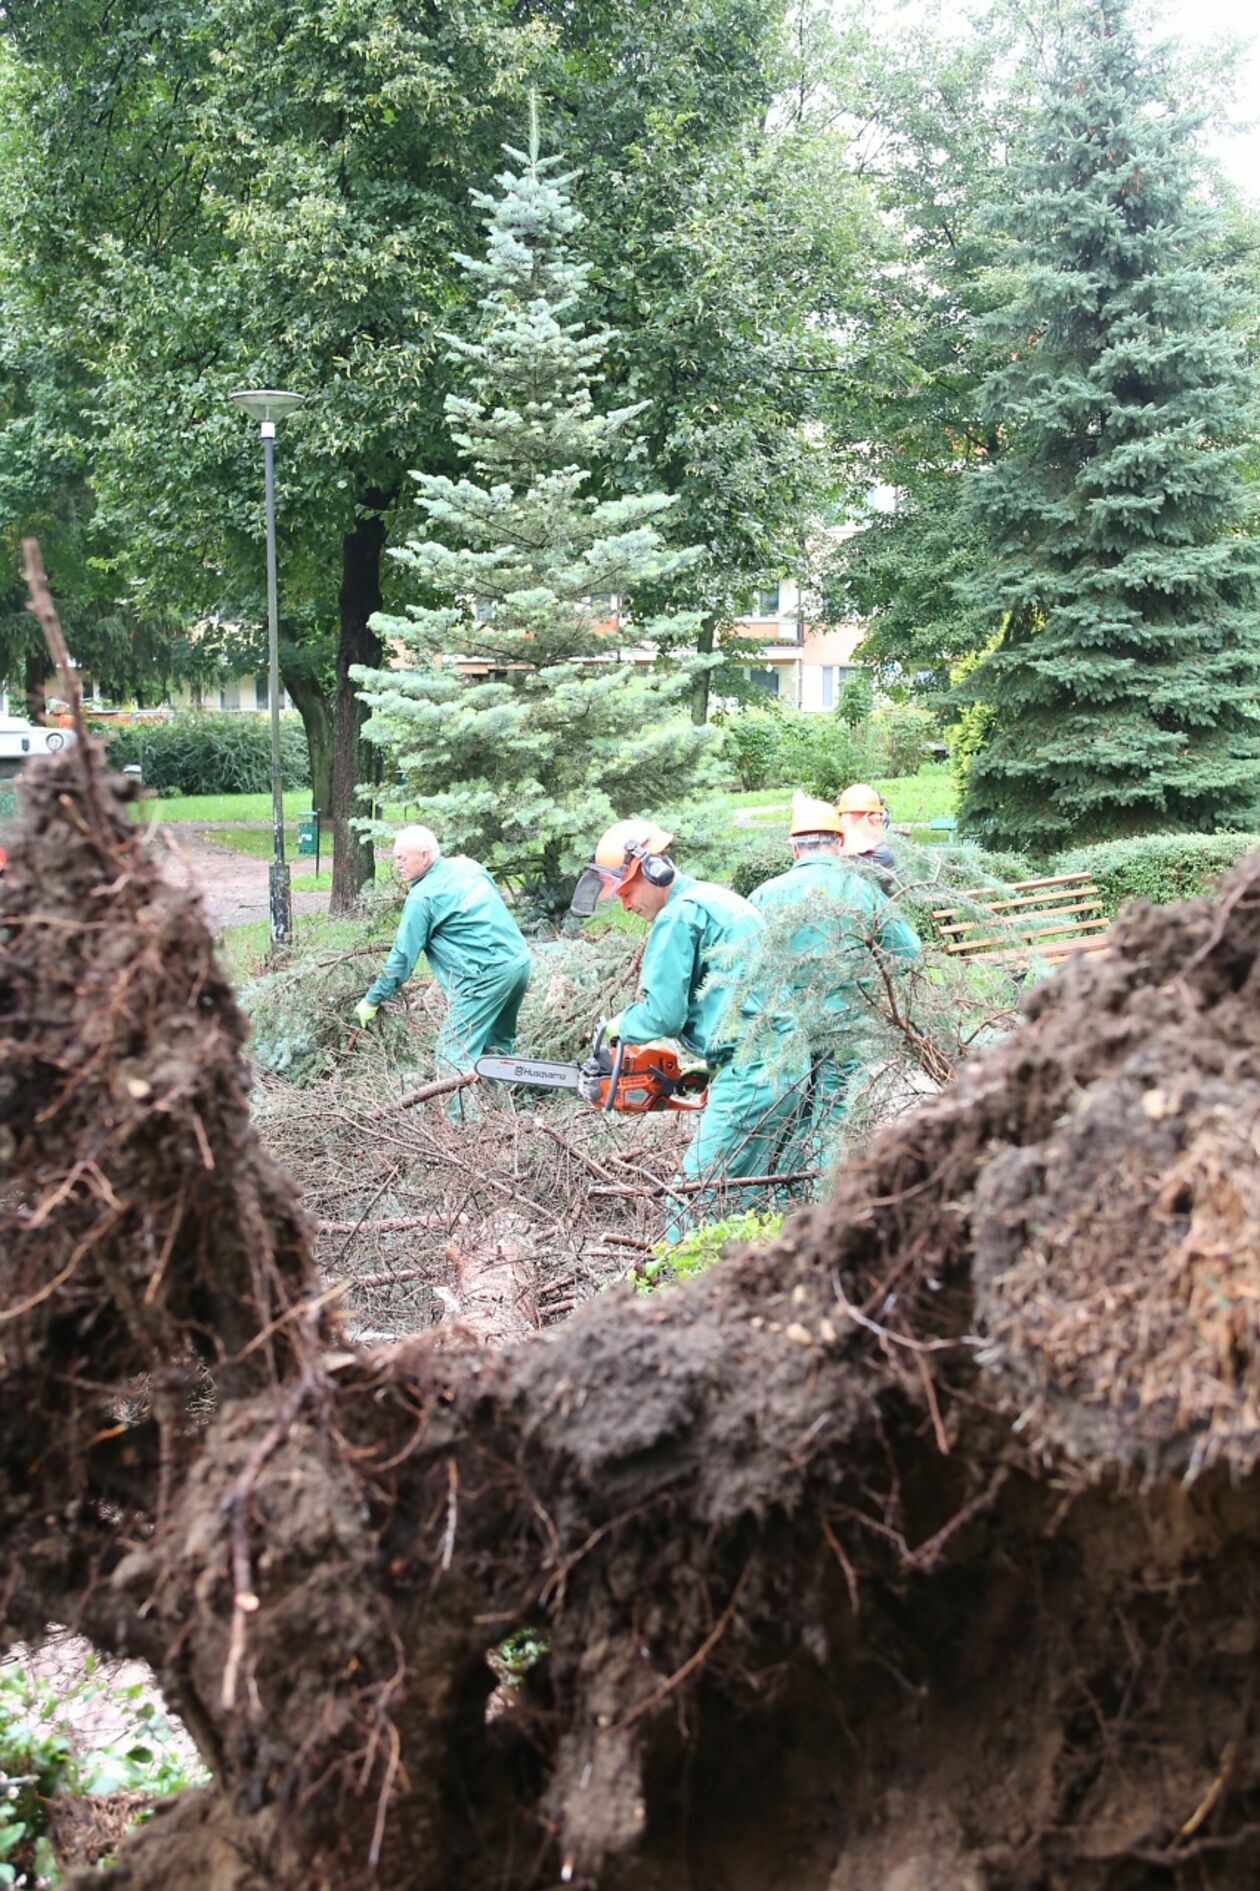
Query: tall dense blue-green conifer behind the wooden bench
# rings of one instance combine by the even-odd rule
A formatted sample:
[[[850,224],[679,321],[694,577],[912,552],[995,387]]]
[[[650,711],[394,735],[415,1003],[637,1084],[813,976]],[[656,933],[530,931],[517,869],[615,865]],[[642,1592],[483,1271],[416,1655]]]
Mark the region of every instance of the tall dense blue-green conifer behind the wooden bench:
[[[974,497],[1003,641],[963,823],[1050,851],[1243,824],[1260,800],[1256,374],[1220,223],[1158,51],[1088,0],[1012,174],[1014,299]]]

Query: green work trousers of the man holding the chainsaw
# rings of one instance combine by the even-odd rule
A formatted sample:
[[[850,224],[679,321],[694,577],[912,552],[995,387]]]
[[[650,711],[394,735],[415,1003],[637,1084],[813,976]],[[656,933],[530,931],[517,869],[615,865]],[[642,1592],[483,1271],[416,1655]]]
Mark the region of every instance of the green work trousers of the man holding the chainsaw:
[[[715,1222],[747,1208],[783,1206],[783,1191],[764,1184],[732,1189],[740,1176],[764,1176],[791,1167],[793,1121],[798,1087],[789,1078],[772,1078],[764,1065],[725,1065],[709,1078],[709,1095],[696,1133],[683,1157],[685,1182],[711,1188],[672,1199],[666,1240],[681,1240],[698,1222]]]

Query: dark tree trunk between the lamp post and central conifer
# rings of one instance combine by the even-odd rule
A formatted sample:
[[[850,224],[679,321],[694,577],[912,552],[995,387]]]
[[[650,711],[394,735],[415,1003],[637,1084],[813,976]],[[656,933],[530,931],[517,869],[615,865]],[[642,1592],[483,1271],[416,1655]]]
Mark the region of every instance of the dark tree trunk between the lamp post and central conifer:
[[[350,821],[365,813],[356,798],[359,783],[371,781],[376,751],[363,741],[367,707],[358,698],[352,664],[380,664],[380,637],[369,628],[380,609],[380,554],[384,518],[367,512],[341,541],[341,637],[337,643],[337,694],[333,700],[333,896],[331,913],[352,913],[359,893],[375,877],[373,845]]]

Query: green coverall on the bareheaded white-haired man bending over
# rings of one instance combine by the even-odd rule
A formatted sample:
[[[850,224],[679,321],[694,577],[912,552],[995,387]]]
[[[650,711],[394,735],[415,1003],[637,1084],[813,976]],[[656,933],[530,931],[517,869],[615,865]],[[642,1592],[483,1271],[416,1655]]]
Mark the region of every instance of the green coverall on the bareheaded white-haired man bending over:
[[[530,947],[477,860],[439,855],[420,879],[412,879],[390,957],[367,989],[367,1004],[392,998],[420,953],[428,955],[446,995],[435,1046],[437,1074],[471,1070],[486,1050],[515,1050],[516,1015],[530,983]]]

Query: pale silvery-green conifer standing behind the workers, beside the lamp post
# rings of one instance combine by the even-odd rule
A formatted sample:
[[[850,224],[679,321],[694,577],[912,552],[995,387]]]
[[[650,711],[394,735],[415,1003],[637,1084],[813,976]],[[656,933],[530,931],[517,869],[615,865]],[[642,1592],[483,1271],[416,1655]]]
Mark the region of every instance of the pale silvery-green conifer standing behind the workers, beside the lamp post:
[[[664,494],[598,492],[641,403],[596,410],[611,335],[581,320],[581,216],[571,178],[539,157],[534,108],[530,149],[509,157],[518,168],[496,180],[499,195],[473,193],[486,255],[460,257],[479,320],[471,340],[450,338],[465,391],[446,397],[446,418],[469,475],[414,475],[431,535],[395,556],[429,601],[375,620],[412,668],[356,675],[369,737],[443,843],[556,906],[607,823],[708,785],[713,734],[681,709],[698,660],[636,664],[609,630],[609,596],[624,601],[692,554],[660,539]],[[687,628],[658,618],[634,639]]]

